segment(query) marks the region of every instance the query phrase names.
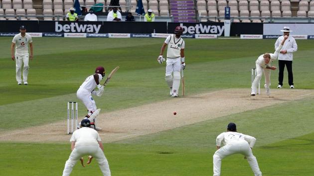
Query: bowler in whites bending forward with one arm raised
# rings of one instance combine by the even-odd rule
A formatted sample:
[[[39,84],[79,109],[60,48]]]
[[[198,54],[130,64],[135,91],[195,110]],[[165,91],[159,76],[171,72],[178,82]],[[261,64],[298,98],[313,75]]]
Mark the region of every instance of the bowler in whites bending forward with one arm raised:
[[[258,59],[256,60],[255,64],[256,64],[257,76],[255,77],[253,85],[251,87],[252,88],[252,91],[251,91],[252,96],[255,96],[255,91],[256,91],[256,88],[258,86],[258,83],[262,79],[262,72],[264,72],[264,75],[265,75],[264,87],[266,88],[266,93],[267,93],[267,95],[270,95],[270,84],[271,84],[270,83],[270,75],[271,75],[270,71],[277,69],[276,66],[271,66],[270,63],[278,58],[278,54],[279,54],[281,48],[283,47],[285,41],[287,40],[287,38],[288,38],[288,36],[286,35],[284,37],[284,40],[281,42],[281,44],[276,49],[274,54],[273,53],[265,53],[265,54],[262,54],[260,57],[258,57]]]

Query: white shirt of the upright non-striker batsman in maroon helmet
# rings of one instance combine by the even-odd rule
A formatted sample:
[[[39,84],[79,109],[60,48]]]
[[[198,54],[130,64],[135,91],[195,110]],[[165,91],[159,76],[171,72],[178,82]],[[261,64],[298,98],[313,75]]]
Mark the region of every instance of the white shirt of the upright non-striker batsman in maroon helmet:
[[[169,35],[164,43],[168,44],[167,49],[167,58],[169,59],[176,59],[181,57],[181,49],[184,49],[184,40],[180,38],[176,38],[174,34]]]

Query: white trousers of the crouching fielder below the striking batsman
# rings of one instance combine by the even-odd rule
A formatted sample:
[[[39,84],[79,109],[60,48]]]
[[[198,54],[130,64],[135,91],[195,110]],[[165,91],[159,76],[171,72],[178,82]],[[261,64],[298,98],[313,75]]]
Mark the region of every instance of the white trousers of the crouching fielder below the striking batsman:
[[[99,168],[103,175],[111,176],[108,161],[105,157],[104,152],[100,149],[98,144],[76,146],[71,152],[69,159],[65,162],[62,176],[70,176],[74,165],[84,155],[93,156],[97,160]]]

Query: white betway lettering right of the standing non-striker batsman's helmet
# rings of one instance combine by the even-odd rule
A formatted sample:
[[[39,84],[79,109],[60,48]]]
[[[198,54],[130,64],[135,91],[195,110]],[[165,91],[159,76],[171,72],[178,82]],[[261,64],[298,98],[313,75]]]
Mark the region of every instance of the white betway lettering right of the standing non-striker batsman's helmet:
[[[196,24],[195,26],[183,26],[183,23],[180,23],[180,26],[183,28],[183,34],[217,34],[218,36],[221,36],[224,26],[219,25],[202,25],[202,24]]]

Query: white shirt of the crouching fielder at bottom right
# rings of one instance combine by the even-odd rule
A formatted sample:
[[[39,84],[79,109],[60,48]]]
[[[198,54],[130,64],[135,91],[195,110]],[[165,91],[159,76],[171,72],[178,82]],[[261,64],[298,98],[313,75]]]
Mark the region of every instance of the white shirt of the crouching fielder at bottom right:
[[[230,145],[233,143],[237,143],[238,141],[246,141],[249,143],[250,147],[253,148],[256,139],[249,135],[228,131],[223,132],[217,136],[216,145],[221,146],[221,143],[223,143],[224,145]]]

